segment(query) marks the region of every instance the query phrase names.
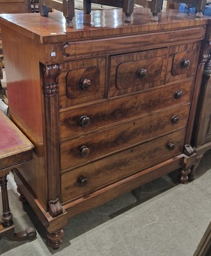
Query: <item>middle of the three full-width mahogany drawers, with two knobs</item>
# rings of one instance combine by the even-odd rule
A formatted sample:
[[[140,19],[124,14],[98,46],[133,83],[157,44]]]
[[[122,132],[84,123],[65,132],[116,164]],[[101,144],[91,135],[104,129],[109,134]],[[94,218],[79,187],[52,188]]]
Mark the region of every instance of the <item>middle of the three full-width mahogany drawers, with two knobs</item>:
[[[187,124],[189,104],[61,143],[61,170],[85,164]]]

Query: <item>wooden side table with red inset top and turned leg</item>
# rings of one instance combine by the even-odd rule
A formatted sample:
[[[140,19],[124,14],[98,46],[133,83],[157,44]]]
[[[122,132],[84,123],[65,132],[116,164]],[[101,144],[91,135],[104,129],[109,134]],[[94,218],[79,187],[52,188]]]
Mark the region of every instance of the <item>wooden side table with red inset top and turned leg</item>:
[[[33,159],[33,144],[0,111],[0,186],[3,204],[3,222],[0,223],[0,239],[6,237],[11,241],[31,240],[36,237],[34,228],[15,233],[13,215],[10,212],[6,176],[10,170]]]

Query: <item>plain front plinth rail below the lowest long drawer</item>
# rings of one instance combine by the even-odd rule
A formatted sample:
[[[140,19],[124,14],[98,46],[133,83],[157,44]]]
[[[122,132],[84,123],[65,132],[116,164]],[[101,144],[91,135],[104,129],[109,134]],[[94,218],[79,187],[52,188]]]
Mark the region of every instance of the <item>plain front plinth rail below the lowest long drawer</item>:
[[[157,179],[160,177],[159,175],[165,175],[173,172],[173,170],[177,170],[180,168],[180,162],[183,158],[184,155],[172,157],[171,159],[159,163],[156,166],[152,166],[142,172],[135,173],[125,179],[115,182],[114,184],[110,184],[100,190],[96,190],[90,195],[83,196],[78,198],[78,200],[69,202],[64,205],[65,209],[68,211],[68,217],[73,218],[82,212],[89,211],[94,207],[97,207],[99,204],[103,204],[108,200],[112,200],[113,198],[122,195],[122,192],[126,193],[127,191],[131,191],[131,188],[138,188],[146,182]]]

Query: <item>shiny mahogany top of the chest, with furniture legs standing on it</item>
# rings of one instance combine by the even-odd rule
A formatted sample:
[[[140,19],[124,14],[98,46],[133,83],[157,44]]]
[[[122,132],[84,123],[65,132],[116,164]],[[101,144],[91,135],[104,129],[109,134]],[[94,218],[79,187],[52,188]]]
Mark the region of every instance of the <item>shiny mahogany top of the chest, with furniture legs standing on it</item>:
[[[91,20],[86,22],[84,13],[76,11],[73,28],[66,28],[62,13],[58,12],[50,13],[49,17],[41,17],[39,13],[1,14],[0,22],[42,44],[137,35],[149,31],[170,31],[175,28],[189,30],[191,27],[203,26],[208,22],[206,16],[203,19],[196,19],[194,13],[193,15],[178,13],[177,10],[159,13],[158,22],[150,21],[150,15],[149,9],[137,8],[132,15],[132,22],[128,23],[124,22],[121,9],[93,11]],[[108,45],[104,46],[108,47]]]

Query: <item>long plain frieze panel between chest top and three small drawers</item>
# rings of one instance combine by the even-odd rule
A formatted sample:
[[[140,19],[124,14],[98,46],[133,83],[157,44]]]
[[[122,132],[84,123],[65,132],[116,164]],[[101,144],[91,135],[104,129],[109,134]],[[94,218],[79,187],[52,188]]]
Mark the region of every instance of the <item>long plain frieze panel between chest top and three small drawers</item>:
[[[204,35],[204,27],[193,28],[193,29],[184,29],[178,31],[166,31],[165,33],[156,33],[156,42],[154,40],[153,33],[149,33],[148,35],[140,34],[140,35],[132,35],[123,37],[120,35],[119,38],[99,38],[98,40],[87,40],[86,42],[68,42],[64,45],[64,60],[73,60],[75,56],[83,56],[89,57],[97,52],[105,52],[113,54],[114,52],[118,52],[118,50],[129,52],[130,49],[133,51],[140,51],[144,49],[150,49],[151,44],[156,44],[156,48],[168,46],[170,44],[174,44],[177,40],[192,40],[196,42],[196,40],[203,39]],[[177,36],[175,36],[177,35]],[[131,51],[131,52],[133,52]]]

